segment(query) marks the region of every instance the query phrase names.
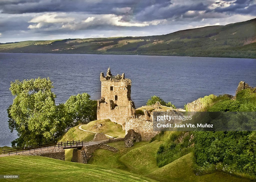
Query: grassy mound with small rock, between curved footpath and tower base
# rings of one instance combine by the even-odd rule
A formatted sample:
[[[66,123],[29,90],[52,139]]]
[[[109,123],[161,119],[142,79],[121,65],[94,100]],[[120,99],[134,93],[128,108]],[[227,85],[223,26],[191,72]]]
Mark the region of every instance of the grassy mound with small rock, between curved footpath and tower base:
[[[101,123],[103,125],[100,130],[92,128],[95,123]],[[91,121],[88,124],[83,125],[82,129],[98,133],[102,132],[115,138],[123,138],[125,136],[125,131],[122,129],[122,126],[109,119]]]

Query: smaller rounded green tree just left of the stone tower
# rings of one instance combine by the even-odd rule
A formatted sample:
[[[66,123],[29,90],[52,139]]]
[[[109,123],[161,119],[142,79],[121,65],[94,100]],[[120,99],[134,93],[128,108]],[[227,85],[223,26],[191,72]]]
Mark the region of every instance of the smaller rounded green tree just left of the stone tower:
[[[88,93],[72,95],[65,103],[74,122],[90,122],[97,118],[97,101],[90,97]]]

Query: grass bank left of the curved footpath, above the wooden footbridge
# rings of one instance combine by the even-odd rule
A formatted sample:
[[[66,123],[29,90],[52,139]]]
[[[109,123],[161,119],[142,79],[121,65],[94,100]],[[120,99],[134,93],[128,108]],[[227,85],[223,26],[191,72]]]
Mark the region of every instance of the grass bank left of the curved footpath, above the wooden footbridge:
[[[65,135],[63,135],[58,141],[76,141],[76,140],[80,140],[80,141],[91,141],[94,137],[95,133],[90,133],[90,132],[86,132],[86,131],[82,131],[80,129],[78,129],[78,126],[75,126],[71,129],[68,130],[67,133],[65,133]]]

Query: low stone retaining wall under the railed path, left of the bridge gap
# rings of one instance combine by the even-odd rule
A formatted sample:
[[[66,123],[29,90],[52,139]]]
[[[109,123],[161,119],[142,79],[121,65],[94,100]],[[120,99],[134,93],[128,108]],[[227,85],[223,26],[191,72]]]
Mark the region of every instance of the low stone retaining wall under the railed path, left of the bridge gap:
[[[40,151],[30,152],[30,153],[21,154],[21,155],[42,156],[42,157],[50,157],[53,159],[65,160],[65,150],[63,148],[40,150]]]

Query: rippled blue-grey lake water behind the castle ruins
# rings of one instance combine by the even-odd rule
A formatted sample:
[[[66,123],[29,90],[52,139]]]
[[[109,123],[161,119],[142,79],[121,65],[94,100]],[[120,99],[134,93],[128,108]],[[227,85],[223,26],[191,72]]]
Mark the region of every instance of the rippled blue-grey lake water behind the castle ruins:
[[[136,55],[19,54],[0,53],[0,146],[10,146],[17,136],[8,129],[6,109],[14,97],[10,82],[49,77],[56,103],[70,95],[87,92],[100,99],[100,72],[125,73],[132,80],[136,108],[152,95],[171,101],[179,108],[209,94],[235,94],[243,80],[256,87],[256,60]]]

